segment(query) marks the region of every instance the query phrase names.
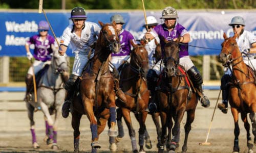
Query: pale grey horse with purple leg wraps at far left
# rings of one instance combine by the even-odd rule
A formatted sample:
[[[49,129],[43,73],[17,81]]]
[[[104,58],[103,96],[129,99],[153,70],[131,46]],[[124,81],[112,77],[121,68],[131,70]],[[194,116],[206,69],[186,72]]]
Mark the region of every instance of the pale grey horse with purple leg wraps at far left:
[[[57,125],[61,113],[61,106],[65,98],[65,89],[63,83],[68,80],[69,66],[67,56],[59,56],[58,48],[51,46],[53,49],[52,60],[48,69],[43,69],[37,74],[37,103],[34,100],[27,101],[28,117],[30,119],[32,143],[34,148],[38,148],[36,134],[34,129],[34,110],[40,107],[45,115],[46,122],[46,140],[47,144],[53,149],[57,149]],[[45,68],[46,68],[45,67]],[[42,72],[44,71],[44,73]],[[33,96],[34,98],[34,96]],[[52,118],[51,115],[54,115]]]

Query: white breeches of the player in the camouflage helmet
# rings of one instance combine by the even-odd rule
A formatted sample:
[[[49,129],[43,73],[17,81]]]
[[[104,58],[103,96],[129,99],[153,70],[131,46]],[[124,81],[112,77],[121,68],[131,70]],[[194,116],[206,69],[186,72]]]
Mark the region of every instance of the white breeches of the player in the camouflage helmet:
[[[194,66],[194,63],[190,60],[189,56],[184,56],[180,58],[179,64],[183,66],[186,71],[189,70],[192,66]],[[160,75],[162,70],[164,69],[163,59],[158,61],[156,65],[153,66],[152,69],[156,71],[157,75]]]

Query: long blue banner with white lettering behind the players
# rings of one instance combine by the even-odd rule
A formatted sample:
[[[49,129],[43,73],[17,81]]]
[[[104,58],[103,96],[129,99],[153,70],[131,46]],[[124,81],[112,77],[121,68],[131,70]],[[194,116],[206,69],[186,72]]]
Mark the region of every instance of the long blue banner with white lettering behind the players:
[[[144,15],[142,11],[129,12],[87,12],[87,21],[98,23],[110,22],[113,14],[121,14],[125,24],[123,28],[130,31],[136,39],[143,36],[145,29]],[[159,23],[161,11],[148,11],[147,16],[153,15]],[[46,15],[57,37],[62,35],[63,30],[72,23],[69,20],[70,12],[48,12]],[[196,11],[178,10],[178,22],[190,33],[190,55],[218,55],[223,42],[223,33],[232,36],[232,28],[228,26],[233,16],[242,16],[245,19],[245,29],[256,36],[256,11]],[[37,23],[46,20],[44,14],[35,12],[0,12],[0,56],[18,57],[25,56],[25,42],[29,37],[38,34]],[[52,35],[51,31],[49,33]],[[31,46],[33,49],[33,46]],[[72,56],[71,50],[68,55]]]

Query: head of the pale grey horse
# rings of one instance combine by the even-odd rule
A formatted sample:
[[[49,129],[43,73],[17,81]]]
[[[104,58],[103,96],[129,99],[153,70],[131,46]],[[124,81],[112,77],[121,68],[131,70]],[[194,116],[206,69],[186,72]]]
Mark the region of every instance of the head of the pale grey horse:
[[[51,61],[51,67],[54,70],[54,73],[56,74],[63,74],[63,73],[69,73],[69,64],[67,60],[67,55],[65,54],[64,56],[60,56],[58,54],[58,48],[55,47],[53,44],[51,45],[52,50],[53,50],[53,55],[52,55],[52,61]]]

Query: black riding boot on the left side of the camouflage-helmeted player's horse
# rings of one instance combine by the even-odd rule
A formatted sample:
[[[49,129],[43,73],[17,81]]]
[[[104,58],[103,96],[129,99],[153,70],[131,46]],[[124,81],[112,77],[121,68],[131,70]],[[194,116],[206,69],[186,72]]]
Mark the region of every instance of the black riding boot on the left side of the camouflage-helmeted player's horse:
[[[155,93],[156,93],[156,86],[158,81],[158,75],[155,70],[149,69],[146,75],[147,79],[147,89],[150,90],[150,101],[148,101],[148,108],[145,111],[151,113],[156,113],[157,105],[155,103]]]

